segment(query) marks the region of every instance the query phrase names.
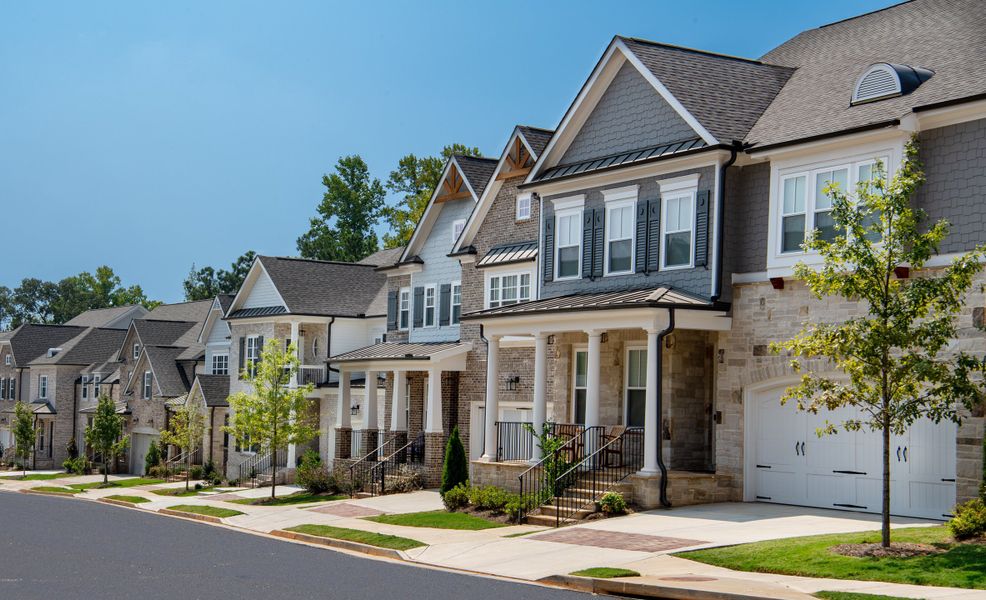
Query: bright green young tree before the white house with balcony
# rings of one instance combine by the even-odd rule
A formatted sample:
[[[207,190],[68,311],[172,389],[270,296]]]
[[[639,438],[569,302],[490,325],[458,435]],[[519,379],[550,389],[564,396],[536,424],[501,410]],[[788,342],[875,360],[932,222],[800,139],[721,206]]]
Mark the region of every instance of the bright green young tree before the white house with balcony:
[[[271,455],[271,498],[275,497],[277,486],[277,451],[291,444],[305,444],[318,434],[307,398],[312,385],[289,385],[298,372],[298,364],[294,342],[284,350],[280,341],[268,340],[254,372],[243,370],[243,378],[250,382],[252,390],[229,397],[232,418],[225,430],[241,445],[258,445],[261,452]]]

